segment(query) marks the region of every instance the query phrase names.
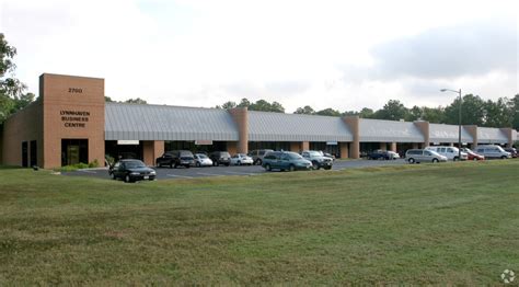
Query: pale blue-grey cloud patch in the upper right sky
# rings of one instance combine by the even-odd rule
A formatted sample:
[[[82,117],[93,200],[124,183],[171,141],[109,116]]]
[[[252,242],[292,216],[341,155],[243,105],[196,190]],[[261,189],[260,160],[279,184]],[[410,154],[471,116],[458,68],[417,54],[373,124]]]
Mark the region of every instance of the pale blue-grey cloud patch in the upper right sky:
[[[517,73],[518,30],[514,21],[438,27],[372,49],[372,77],[448,79],[492,71]]]

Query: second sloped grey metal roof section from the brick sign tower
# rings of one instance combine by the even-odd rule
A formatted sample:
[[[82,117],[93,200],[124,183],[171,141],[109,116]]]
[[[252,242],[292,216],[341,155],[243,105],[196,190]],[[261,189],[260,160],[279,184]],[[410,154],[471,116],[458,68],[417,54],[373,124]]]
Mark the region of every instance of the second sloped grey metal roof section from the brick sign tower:
[[[249,111],[250,141],[353,141],[341,117]]]

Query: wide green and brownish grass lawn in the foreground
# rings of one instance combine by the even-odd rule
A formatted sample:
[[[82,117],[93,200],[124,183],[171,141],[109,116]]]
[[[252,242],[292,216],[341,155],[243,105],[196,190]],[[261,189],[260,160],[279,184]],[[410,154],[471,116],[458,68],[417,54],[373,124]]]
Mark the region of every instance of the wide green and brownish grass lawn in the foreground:
[[[462,284],[519,273],[519,161],[125,184],[0,170],[0,285]]]

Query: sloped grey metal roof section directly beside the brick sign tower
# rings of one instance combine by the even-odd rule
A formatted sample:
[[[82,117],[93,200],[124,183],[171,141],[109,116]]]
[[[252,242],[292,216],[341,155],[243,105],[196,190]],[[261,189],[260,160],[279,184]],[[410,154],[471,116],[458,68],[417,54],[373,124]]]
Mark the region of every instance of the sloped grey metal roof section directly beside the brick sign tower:
[[[106,140],[238,140],[226,110],[106,103]]]

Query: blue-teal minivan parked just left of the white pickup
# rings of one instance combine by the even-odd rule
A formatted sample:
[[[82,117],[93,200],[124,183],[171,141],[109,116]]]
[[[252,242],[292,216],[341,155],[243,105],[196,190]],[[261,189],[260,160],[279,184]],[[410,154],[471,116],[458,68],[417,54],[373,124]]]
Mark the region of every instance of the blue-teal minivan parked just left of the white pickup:
[[[281,171],[310,170],[312,162],[296,152],[270,151],[263,158],[262,167],[267,171],[274,169]]]

